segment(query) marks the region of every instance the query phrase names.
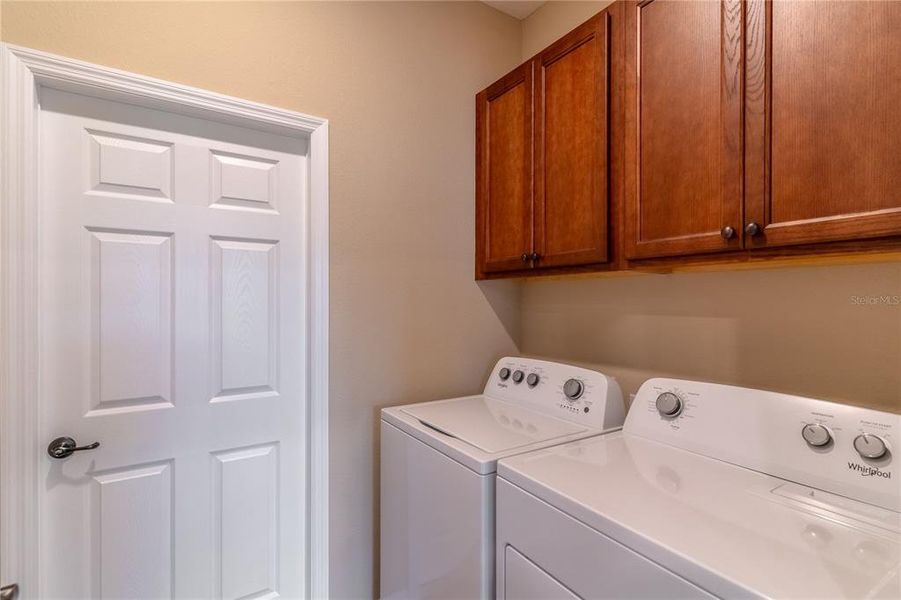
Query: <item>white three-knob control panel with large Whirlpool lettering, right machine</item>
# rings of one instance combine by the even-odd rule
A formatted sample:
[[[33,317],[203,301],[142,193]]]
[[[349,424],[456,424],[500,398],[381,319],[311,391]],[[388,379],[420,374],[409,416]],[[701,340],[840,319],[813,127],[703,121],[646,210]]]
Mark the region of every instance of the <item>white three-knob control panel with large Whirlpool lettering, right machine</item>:
[[[899,414],[655,378],[623,431],[901,512]]]

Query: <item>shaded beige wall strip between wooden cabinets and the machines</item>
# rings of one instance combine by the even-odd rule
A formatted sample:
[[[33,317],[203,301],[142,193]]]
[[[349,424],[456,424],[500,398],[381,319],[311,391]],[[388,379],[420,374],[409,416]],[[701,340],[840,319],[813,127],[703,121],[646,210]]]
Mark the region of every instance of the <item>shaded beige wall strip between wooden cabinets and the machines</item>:
[[[528,282],[524,354],[901,412],[901,263]]]

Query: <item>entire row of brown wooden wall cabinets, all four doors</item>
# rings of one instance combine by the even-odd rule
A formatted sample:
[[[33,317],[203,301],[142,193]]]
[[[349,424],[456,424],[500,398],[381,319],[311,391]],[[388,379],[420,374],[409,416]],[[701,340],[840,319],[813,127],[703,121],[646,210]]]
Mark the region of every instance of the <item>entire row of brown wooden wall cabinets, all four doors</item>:
[[[620,0],[478,94],[476,277],[901,250],[901,2]]]

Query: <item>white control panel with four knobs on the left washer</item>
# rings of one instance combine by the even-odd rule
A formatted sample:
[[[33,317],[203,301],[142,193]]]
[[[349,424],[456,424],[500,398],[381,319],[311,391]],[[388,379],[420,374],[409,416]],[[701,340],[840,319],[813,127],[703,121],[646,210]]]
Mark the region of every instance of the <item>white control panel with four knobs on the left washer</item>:
[[[563,363],[502,358],[485,385],[485,395],[597,429],[620,427],[625,419],[615,379]]]

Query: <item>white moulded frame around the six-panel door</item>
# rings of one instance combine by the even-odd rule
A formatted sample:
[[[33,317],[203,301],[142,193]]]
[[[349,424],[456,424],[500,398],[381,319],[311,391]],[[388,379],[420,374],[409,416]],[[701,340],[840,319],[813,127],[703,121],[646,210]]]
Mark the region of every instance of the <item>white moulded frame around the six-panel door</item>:
[[[328,597],[328,121],[8,44],[0,75],[0,585],[17,582],[31,598],[40,579],[38,103],[47,87],[309,139],[304,566],[309,596]]]

